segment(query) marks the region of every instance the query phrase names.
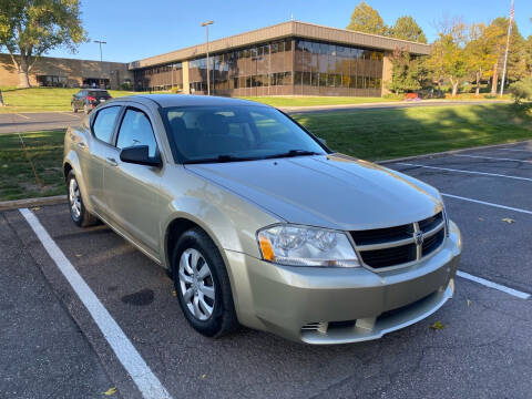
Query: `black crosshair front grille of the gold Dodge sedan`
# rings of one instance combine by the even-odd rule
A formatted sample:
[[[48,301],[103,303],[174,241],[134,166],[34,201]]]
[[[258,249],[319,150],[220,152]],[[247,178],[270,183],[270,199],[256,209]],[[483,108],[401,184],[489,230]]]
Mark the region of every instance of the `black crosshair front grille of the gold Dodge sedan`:
[[[439,212],[407,225],[350,234],[367,266],[375,269],[400,266],[420,260],[443,244],[446,237],[443,213]],[[416,237],[417,235],[421,237]]]

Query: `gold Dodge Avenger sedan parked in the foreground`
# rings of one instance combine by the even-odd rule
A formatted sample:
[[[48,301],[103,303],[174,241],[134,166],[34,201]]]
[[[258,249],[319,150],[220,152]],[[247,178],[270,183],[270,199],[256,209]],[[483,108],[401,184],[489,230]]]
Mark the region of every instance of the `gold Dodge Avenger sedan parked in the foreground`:
[[[454,291],[462,244],[438,190],[264,104],[112,100],[68,129],[63,172],[72,221],[103,221],[166,268],[206,336],[239,323],[307,344],[376,339]]]

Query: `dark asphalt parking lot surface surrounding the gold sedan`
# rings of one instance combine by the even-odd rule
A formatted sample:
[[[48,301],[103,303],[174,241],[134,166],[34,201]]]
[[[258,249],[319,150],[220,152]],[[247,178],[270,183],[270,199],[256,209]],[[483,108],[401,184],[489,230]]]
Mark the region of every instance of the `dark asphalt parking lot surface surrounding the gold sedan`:
[[[0,213],[0,397],[98,398],[116,387],[123,398],[530,398],[532,141],[387,166],[443,193],[463,235],[463,277],[428,319],[356,345],[249,329],[204,338],[164,270],[108,227],[75,227],[65,205],[30,209],[39,237],[60,249],[52,260],[34,223]],[[116,337],[102,334],[60,272],[61,254],[102,305],[92,311],[109,311],[145,367],[119,360]],[[152,391],[137,387],[143,378]]]

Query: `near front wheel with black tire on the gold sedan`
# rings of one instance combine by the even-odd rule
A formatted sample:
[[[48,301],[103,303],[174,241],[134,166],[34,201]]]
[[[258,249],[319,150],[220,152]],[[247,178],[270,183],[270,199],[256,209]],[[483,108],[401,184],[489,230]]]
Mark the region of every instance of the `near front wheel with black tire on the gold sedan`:
[[[204,231],[192,228],[180,237],[172,254],[172,272],[181,309],[196,331],[218,338],[236,329],[227,269]]]

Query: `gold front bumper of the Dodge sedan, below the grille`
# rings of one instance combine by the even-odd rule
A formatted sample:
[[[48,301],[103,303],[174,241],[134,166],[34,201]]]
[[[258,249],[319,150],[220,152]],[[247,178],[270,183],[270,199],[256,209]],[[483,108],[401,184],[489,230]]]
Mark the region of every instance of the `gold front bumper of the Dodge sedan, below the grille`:
[[[307,344],[376,339],[438,310],[454,291],[461,254],[451,222],[443,246],[405,269],[285,267],[226,252],[243,325]]]

